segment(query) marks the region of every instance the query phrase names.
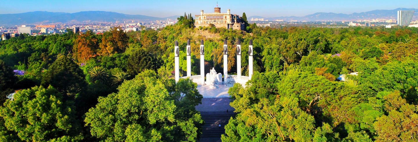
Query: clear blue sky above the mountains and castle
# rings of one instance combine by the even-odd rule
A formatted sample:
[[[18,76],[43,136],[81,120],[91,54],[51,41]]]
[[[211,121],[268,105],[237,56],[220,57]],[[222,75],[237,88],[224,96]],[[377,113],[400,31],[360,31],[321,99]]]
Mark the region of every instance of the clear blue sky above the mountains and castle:
[[[1,0],[0,14],[31,11],[80,12],[112,11],[154,17],[213,12],[216,3],[221,12],[247,16],[303,16],[315,12],[351,14],[370,10],[417,8],[418,0]]]

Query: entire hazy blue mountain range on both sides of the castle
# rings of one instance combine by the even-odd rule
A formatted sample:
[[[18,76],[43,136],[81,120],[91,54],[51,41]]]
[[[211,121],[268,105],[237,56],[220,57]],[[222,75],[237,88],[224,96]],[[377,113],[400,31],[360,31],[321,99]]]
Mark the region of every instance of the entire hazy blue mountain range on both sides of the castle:
[[[413,20],[418,20],[418,9],[397,8],[394,10],[372,10],[368,12],[342,14],[332,12],[317,12],[306,16],[286,16],[286,17],[261,17],[250,16],[251,18],[264,18],[264,20],[298,20],[298,21],[353,21],[353,20],[372,20],[372,19],[396,19],[398,10],[415,10]],[[250,14],[250,13],[248,13]],[[136,20],[149,22],[155,20],[175,20],[179,16],[171,17],[151,17],[146,15],[128,15],[117,12],[107,11],[82,11],[76,13],[65,12],[46,12],[34,11],[18,14],[0,14],[0,26],[13,25],[33,25],[33,24],[57,24],[57,23],[94,23],[94,22],[115,22],[123,20]]]

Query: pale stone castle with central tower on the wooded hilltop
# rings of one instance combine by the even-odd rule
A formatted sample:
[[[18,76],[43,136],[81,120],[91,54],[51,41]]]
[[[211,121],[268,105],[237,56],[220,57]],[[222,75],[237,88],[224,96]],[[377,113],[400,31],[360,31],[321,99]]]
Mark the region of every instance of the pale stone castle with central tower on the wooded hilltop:
[[[209,24],[234,30],[244,30],[245,28],[240,15],[231,14],[229,9],[226,13],[221,13],[221,7],[214,7],[213,13],[204,13],[203,10],[200,10],[200,15],[195,15],[194,25],[196,27],[209,27]]]

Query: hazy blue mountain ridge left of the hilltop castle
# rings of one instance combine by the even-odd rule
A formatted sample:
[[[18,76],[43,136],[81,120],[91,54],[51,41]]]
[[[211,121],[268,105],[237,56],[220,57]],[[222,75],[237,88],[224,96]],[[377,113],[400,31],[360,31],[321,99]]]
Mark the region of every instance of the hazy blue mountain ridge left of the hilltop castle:
[[[155,20],[176,19],[179,16],[151,17],[146,15],[127,15],[107,11],[82,11],[76,13],[34,11],[18,14],[0,14],[0,25],[31,25],[50,23],[80,23],[80,22],[115,22],[123,20],[138,20],[149,22]]]

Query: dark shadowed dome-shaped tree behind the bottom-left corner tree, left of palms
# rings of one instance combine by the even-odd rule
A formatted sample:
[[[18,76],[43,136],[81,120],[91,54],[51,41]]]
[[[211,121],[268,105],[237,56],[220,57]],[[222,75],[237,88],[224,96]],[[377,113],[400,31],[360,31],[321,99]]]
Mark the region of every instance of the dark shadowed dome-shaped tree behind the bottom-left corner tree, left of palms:
[[[52,85],[61,92],[74,99],[75,95],[87,85],[85,75],[80,67],[66,56],[60,56],[48,68],[41,84],[46,87]]]

